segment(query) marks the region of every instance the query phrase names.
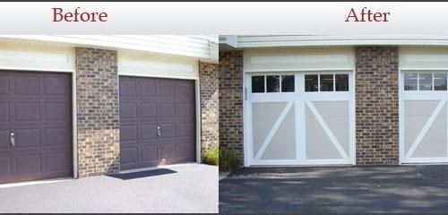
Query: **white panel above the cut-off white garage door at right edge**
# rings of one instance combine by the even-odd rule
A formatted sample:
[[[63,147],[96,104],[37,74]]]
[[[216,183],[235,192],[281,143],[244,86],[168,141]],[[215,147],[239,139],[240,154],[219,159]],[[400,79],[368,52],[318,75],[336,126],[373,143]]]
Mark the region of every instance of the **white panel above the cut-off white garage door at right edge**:
[[[401,47],[400,68],[448,70],[448,47]]]

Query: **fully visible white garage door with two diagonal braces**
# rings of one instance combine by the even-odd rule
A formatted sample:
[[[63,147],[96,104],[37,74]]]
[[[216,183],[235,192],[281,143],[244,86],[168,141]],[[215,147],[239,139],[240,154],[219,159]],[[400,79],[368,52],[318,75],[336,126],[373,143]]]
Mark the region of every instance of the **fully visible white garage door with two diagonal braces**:
[[[351,72],[251,73],[251,165],[354,164]]]

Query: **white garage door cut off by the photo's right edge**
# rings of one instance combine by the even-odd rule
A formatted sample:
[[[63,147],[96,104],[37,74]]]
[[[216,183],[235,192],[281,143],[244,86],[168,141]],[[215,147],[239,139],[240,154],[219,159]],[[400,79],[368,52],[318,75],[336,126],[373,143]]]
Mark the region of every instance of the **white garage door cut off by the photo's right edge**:
[[[446,71],[401,72],[401,162],[448,162]]]

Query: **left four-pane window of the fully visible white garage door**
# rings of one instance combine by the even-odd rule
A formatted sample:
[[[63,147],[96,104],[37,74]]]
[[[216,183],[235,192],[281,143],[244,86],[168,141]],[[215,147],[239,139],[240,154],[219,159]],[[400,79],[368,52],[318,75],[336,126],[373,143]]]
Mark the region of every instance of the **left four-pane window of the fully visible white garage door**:
[[[254,75],[253,93],[294,92],[294,75]]]

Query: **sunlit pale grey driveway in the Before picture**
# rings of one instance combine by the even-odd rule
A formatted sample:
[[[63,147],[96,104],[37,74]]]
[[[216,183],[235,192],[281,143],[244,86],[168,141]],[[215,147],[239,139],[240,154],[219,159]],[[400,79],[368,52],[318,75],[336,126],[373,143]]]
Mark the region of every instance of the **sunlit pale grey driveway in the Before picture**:
[[[0,200],[1,212],[217,212],[218,168],[187,164],[1,187]]]

